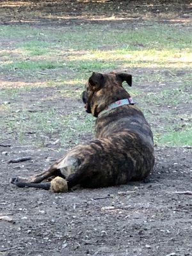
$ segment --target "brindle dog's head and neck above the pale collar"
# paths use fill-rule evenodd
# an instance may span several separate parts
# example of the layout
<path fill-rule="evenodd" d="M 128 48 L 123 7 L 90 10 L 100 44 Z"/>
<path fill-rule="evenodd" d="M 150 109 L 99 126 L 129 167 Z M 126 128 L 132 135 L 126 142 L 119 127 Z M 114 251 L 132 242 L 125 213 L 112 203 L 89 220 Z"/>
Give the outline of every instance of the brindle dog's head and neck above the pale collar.
<path fill-rule="evenodd" d="M 109 104 L 116 100 L 129 98 L 129 93 L 122 86 L 124 81 L 131 86 L 132 76 L 126 73 L 101 74 L 93 72 L 82 95 L 86 112 L 97 117 L 100 111 Z"/>

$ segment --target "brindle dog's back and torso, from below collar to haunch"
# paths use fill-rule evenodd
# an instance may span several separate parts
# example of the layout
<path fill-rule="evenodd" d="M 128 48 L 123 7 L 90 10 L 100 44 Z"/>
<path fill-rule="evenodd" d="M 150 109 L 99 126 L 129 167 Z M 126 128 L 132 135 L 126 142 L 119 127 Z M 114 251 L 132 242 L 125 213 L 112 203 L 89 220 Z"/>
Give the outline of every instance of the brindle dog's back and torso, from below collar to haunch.
<path fill-rule="evenodd" d="M 142 180 L 152 172 L 153 135 L 140 109 L 129 105 L 105 113 L 97 118 L 95 132 L 97 144 L 106 141 L 102 158 L 108 159 L 108 163 L 103 168 L 113 169 L 111 173 L 118 177 L 115 184 Z"/>

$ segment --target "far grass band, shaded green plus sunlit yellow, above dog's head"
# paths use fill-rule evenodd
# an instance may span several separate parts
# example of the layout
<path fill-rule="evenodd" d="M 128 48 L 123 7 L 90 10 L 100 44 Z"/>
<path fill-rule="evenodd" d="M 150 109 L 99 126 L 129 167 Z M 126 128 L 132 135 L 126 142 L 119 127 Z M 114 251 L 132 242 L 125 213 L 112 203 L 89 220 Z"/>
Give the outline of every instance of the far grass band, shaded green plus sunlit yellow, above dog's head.
<path fill-rule="evenodd" d="M 137 30 L 128 28 L 119 31 L 109 26 L 94 25 L 94 29 L 92 26 L 86 26 L 86 29 L 75 26 L 47 28 L 43 32 L 28 26 L 22 29 L 19 26 L 1 26 L 1 36 L 13 40 L 15 47 L 10 53 L 4 52 L 4 56 L 9 56 L 1 65 L 4 72 L 10 68 L 35 72 L 62 65 L 79 72 L 92 68 L 185 68 L 191 61 L 191 36 L 188 31 L 178 31 L 163 24 Z M 35 56 L 38 58 L 35 59 Z M 26 61 L 26 58 L 29 60 Z"/>

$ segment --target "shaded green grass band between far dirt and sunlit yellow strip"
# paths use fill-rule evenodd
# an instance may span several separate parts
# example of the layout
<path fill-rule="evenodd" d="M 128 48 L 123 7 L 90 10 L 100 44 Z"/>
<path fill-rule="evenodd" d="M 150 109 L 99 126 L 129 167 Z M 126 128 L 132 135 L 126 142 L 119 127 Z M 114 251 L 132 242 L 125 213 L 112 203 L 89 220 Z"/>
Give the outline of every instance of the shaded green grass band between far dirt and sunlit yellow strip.
<path fill-rule="evenodd" d="M 149 26 L 148 26 L 149 25 Z M 152 26 L 151 26 L 152 25 Z M 179 33 L 178 33 L 179 32 Z M 1 26 L 0 36 L 9 39 L 52 41 L 70 49 L 97 49 L 116 45 L 116 48 L 138 49 L 143 45 L 148 49 L 183 49 L 190 47 L 191 35 L 186 29 L 165 24 L 146 23 L 138 29 L 111 28 L 111 26 L 74 26 L 70 28 L 38 29 L 29 26 Z M 49 44 L 49 43 L 47 43 Z M 140 45 L 137 45 L 140 44 Z"/>

